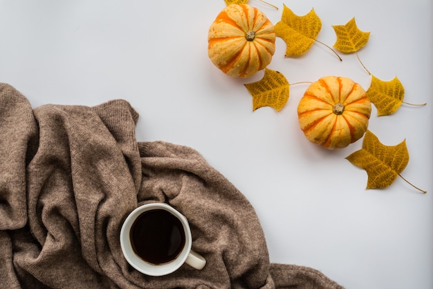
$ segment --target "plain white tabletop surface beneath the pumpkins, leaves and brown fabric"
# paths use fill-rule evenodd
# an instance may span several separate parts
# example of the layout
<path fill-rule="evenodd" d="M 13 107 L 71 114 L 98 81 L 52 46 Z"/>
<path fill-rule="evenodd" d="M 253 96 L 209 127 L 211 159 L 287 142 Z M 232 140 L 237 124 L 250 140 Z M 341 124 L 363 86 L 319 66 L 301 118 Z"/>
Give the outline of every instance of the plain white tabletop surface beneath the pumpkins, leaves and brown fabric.
<path fill-rule="evenodd" d="M 276 24 L 283 1 L 258 0 Z M 162 140 L 199 150 L 250 200 L 263 225 L 270 261 L 321 270 L 347 289 L 433 288 L 432 1 L 286 0 L 297 15 L 314 8 L 317 37 L 335 43 L 332 25 L 352 17 L 369 43 L 358 54 L 376 77 L 395 76 L 405 101 L 369 130 L 385 145 L 406 139 L 403 176 L 388 189 L 366 190 L 367 173 L 344 157 L 362 141 L 329 151 L 305 139 L 296 108 L 306 85 L 291 86 L 286 107 L 252 112 L 244 83 L 208 59 L 208 27 L 223 0 L 0 0 L 0 81 L 46 103 L 98 105 L 125 98 L 140 113 L 139 141 Z M 300 58 L 277 49 L 268 68 L 289 82 L 322 76 L 352 78 L 367 89 L 370 76 L 356 55 L 321 44 Z M 2 136 L 3 137 L 3 136 Z"/>

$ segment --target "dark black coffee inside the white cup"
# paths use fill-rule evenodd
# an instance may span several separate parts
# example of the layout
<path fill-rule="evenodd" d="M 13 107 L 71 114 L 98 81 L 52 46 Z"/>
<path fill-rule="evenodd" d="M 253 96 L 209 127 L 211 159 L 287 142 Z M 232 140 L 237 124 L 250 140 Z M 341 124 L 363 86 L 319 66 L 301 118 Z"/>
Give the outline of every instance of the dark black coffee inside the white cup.
<path fill-rule="evenodd" d="M 129 233 L 133 251 L 144 261 L 163 264 L 176 259 L 185 245 L 182 222 L 163 209 L 145 211 Z"/>

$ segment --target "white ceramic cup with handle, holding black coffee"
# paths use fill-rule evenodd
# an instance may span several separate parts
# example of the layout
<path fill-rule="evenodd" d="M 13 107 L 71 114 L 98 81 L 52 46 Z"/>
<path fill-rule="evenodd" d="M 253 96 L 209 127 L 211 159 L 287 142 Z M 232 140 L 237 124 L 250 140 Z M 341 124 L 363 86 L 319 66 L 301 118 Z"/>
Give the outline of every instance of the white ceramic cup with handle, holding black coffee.
<path fill-rule="evenodd" d="M 136 219 L 147 211 L 162 209 L 172 213 L 173 216 L 178 218 L 181 221 L 183 232 L 185 234 L 185 245 L 181 252 L 176 256 L 175 259 L 169 261 L 167 263 L 154 264 L 145 261 L 140 258 L 138 254 L 133 249 L 132 240 L 130 237 L 130 231 L 133 226 L 133 223 Z M 128 263 L 131 264 L 133 268 L 142 272 L 143 274 L 147 274 L 150 276 L 162 276 L 166 274 L 170 274 L 183 265 L 183 263 L 187 263 L 188 265 L 196 268 L 197 270 L 203 269 L 206 264 L 205 259 L 200 254 L 194 252 L 191 249 L 192 246 L 192 236 L 190 225 L 188 224 L 187 219 L 181 213 L 176 211 L 173 207 L 170 207 L 165 203 L 151 203 L 144 204 L 136 209 L 134 209 L 129 216 L 127 216 L 125 222 L 122 225 L 122 229 L 120 230 L 120 246 L 122 247 L 123 255 L 125 259 L 127 259 Z"/>

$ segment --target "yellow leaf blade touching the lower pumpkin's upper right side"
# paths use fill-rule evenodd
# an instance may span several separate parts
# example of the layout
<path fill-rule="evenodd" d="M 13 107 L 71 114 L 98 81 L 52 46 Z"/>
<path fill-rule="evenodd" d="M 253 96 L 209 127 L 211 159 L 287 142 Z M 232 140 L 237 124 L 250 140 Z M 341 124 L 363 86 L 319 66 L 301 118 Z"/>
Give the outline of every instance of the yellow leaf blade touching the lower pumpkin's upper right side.
<path fill-rule="evenodd" d="M 367 96 L 378 109 L 378 116 L 389 115 L 396 112 L 403 103 L 405 88 L 397 77 L 390 81 L 383 81 L 371 76 Z"/>

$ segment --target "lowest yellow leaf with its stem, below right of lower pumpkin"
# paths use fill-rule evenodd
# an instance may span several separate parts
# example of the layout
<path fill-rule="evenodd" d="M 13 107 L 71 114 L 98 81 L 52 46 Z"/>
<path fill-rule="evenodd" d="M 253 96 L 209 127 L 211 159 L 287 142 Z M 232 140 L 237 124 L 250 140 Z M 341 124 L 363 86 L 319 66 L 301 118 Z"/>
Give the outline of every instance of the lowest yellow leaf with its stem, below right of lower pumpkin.
<path fill-rule="evenodd" d="M 409 152 L 406 141 L 403 140 L 396 146 L 385 146 L 376 135 L 367 130 L 362 149 L 353 152 L 346 159 L 367 172 L 367 189 L 383 189 L 390 186 L 398 176 L 402 177 L 400 173 L 409 162 Z M 416 186 L 414 188 L 418 189 Z"/>

